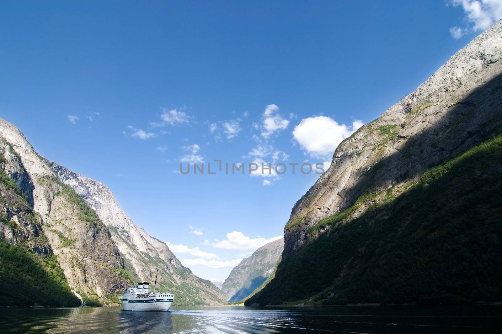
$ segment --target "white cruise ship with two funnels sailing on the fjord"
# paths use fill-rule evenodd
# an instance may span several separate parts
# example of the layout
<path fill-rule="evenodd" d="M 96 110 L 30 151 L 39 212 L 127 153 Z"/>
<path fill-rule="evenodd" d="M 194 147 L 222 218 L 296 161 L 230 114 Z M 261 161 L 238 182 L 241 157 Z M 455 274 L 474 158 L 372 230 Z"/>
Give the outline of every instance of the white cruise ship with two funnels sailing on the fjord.
<path fill-rule="evenodd" d="M 149 290 L 150 283 L 138 283 L 138 286 L 130 287 L 124 292 L 122 309 L 124 311 L 169 311 L 174 302 L 174 294 Z"/>

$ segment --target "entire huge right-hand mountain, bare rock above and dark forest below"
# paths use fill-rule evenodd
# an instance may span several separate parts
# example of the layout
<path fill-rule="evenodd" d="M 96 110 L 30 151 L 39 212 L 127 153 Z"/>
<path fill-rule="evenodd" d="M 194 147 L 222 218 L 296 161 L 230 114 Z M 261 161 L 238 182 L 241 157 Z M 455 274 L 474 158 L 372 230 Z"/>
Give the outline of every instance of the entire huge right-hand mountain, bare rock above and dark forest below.
<path fill-rule="evenodd" d="M 501 59 L 499 21 L 342 141 L 246 304 L 502 300 Z"/>

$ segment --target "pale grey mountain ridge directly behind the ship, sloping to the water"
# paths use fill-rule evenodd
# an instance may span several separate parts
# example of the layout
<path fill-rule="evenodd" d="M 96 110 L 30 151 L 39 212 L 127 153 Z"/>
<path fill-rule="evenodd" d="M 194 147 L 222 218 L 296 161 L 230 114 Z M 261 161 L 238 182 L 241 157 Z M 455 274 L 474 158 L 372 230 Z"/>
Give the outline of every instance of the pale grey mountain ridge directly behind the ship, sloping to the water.
<path fill-rule="evenodd" d="M 70 186 L 111 231 L 111 239 L 140 280 L 153 280 L 159 267 L 159 286 L 176 295 L 178 305 L 217 305 L 226 298 L 211 282 L 196 277 L 169 250 L 148 235 L 118 207 L 113 193 L 100 182 L 69 171 L 55 162 L 50 166 L 61 182 Z"/>

